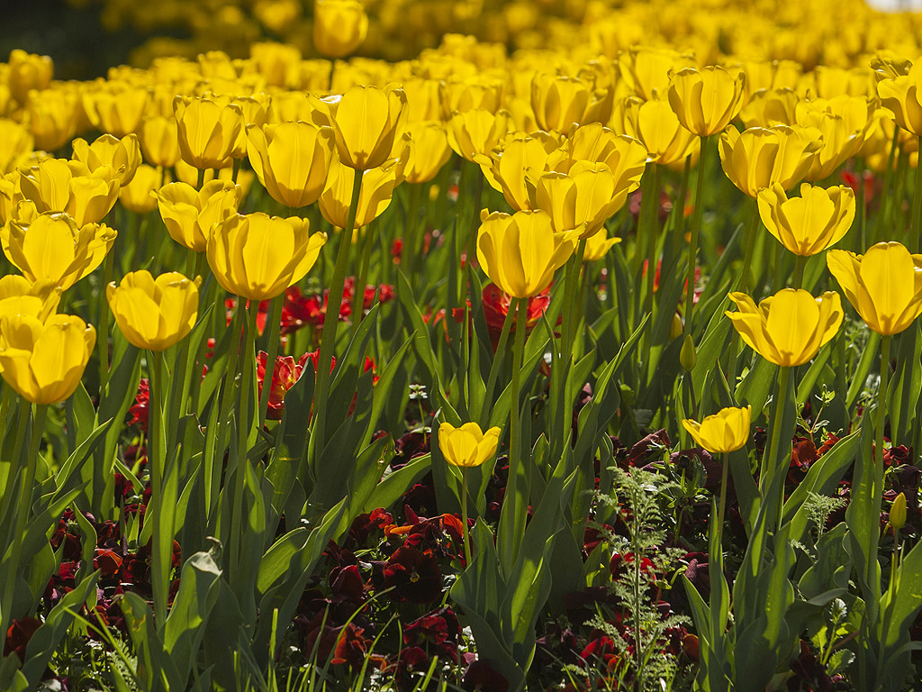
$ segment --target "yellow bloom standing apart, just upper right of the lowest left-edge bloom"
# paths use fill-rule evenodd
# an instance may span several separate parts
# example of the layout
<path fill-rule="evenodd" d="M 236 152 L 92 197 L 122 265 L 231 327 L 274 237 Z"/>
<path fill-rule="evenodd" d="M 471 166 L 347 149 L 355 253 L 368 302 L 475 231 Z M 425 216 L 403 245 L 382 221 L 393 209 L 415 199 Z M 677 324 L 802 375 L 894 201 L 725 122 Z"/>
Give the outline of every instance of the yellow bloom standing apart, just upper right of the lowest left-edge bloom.
<path fill-rule="evenodd" d="M 198 286 L 171 271 L 154 279 L 147 269 L 124 275 L 118 286 L 106 286 L 106 300 L 124 338 L 139 349 L 165 351 L 195 327 Z"/>

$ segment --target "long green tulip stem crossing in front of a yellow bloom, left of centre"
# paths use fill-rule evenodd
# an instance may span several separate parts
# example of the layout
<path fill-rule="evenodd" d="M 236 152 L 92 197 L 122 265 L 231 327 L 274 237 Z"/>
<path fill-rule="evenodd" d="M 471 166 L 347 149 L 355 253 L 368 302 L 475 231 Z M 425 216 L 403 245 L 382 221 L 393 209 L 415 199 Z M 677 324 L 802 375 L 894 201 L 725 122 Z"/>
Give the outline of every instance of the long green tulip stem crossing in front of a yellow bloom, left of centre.
<path fill-rule="evenodd" d="M 339 235 L 339 250 L 337 263 L 333 268 L 333 278 L 330 280 L 329 291 L 326 298 L 326 314 L 324 316 L 324 332 L 320 340 L 320 356 L 317 362 L 317 386 L 314 389 L 313 411 L 316 414 L 313 421 L 313 435 L 309 443 L 309 454 L 315 461 L 315 454 L 323 450 L 325 443 L 326 403 L 330 395 L 330 364 L 333 362 L 333 352 L 337 345 L 337 327 L 339 326 L 339 304 L 342 302 L 343 286 L 346 284 L 346 265 L 349 264 L 349 248 L 352 245 L 352 231 L 355 229 L 355 216 L 359 210 L 359 196 L 361 195 L 361 169 L 356 169 L 355 179 L 352 182 L 352 200 L 349 203 L 349 217 L 346 228 Z M 318 447 L 319 450 L 318 450 Z"/>

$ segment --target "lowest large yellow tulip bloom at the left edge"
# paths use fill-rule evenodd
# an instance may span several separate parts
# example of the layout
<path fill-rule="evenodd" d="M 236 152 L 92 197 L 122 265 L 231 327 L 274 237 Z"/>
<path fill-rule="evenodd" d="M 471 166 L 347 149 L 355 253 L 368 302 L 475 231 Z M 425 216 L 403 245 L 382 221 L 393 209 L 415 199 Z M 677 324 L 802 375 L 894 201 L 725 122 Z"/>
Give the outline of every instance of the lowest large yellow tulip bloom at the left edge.
<path fill-rule="evenodd" d="M 96 329 L 76 316 L 42 322 L 30 315 L 0 319 L 0 374 L 34 404 L 70 397 L 96 345 Z"/>

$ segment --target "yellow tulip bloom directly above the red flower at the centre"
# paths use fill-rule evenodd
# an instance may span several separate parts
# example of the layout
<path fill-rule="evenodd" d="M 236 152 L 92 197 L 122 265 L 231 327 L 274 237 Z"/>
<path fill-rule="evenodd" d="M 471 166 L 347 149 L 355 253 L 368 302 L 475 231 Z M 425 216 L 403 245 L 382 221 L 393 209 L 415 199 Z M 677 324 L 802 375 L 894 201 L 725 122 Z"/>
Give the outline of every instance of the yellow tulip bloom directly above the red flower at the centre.
<path fill-rule="evenodd" d="M 490 280 L 515 298 L 542 292 L 573 255 L 578 233 L 554 233 L 545 211 L 481 214 L 477 258 Z"/>

